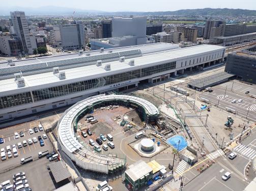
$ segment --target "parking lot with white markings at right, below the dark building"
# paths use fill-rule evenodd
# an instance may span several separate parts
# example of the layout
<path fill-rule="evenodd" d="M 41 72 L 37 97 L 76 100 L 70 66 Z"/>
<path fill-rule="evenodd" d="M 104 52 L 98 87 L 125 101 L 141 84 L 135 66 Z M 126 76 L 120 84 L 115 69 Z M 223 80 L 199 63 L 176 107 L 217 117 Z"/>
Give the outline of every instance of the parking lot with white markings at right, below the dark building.
<path fill-rule="evenodd" d="M 255 86 L 231 82 L 221 84 L 212 88 L 213 92 L 204 92 L 198 95 L 201 100 L 209 101 L 212 105 L 218 106 L 227 111 L 238 114 L 239 116 L 256 121 L 256 99 L 245 95 L 245 91 L 254 92 Z M 231 86 L 229 88 L 224 88 Z M 232 91 L 231 91 L 232 88 Z M 241 102 L 239 101 L 241 99 Z M 232 103 L 236 100 L 235 103 Z"/>

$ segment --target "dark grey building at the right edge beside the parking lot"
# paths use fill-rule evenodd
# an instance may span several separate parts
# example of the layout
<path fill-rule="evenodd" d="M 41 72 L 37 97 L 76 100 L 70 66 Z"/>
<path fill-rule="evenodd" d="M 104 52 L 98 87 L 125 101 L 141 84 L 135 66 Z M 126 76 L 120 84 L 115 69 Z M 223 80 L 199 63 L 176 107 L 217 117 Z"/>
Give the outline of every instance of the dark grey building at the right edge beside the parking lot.
<path fill-rule="evenodd" d="M 248 82 L 256 83 L 256 52 L 239 51 L 229 53 L 226 59 L 225 71 L 237 75 L 237 78 Z"/>

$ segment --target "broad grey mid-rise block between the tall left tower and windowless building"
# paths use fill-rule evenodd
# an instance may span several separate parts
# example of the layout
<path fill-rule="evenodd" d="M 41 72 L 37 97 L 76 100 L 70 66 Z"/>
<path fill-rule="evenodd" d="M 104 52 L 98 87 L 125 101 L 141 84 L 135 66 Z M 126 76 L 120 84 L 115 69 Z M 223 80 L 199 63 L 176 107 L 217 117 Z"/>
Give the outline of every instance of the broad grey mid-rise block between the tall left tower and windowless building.
<path fill-rule="evenodd" d="M 84 48 L 84 31 L 81 21 L 60 25 L 62 48 L 77 50 Z"/>

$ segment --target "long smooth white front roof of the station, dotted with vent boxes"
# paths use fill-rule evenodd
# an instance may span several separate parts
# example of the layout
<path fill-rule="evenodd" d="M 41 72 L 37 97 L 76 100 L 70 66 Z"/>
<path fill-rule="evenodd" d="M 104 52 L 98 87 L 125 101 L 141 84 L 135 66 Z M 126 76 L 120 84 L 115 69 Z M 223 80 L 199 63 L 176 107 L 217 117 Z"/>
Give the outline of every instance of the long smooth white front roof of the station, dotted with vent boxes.
<path fill-rule="evenodd" d="M 162 51 L 152 54 L 146 54 L 143 56 L 128 58 L 125 59 L 124 62 L 109 61 L 102 63 L 101 66 L 96 66 L 96 64 L 67 68 L 62 69 L 61 71 L 65 71 L 66 79 L 60 80 L 57 75 L 53 74 L 52 71 L 38 73 L 38 74 L 29 74 L 23 76 L 25 80 L 25 87 L 40 87 L 44 84 L 49 84 L 49 87 L 54 86 L 55 83 L 67 84 L 73 83 L 83 80 L 89 80 L 93 78 L 104 77 L 105 75 L 111 75 L 119 72 L 130 71 L 133 69 L 140 69 L 143 67 L 149 67 L 154 65 L 155 63 L 163 63 L 166 61 L 177 61 L 181 59 L 186 59 L 188 57 L 198 56 L 201 54 L 207 54 L 211 51 L 221 51 L 224 50 L 224 47 L 215 46 L 215 45 L 198 45 L 188 48 L 182 49 L 174 49 L 169 51 Z M 128 63 L 130 60 L 134 60 L 134 66 L 130 66 Z M 110 70 L 107 71 L 104 69 L 106 64 L 110 64 Z M 75 80 L 76 79 L 76 80 Z M 52 84 L 52 85 L 50 85 Z M 0 80 L 0 92 L 11 91 L 17 89 L 17 84 L 12 79 L 4 79 Z M 22 89 L 22 88 L 19 88 Z"/>

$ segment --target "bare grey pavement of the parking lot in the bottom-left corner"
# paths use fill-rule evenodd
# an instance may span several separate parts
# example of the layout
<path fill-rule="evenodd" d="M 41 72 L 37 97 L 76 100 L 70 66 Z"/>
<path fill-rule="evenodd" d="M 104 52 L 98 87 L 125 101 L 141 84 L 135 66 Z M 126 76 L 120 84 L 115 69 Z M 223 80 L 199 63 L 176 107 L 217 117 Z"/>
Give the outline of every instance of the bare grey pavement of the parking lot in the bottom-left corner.
<path fill-rule="evenodd" d="M 10 180 L 11 183 L 13 184 L 13 175 L 19 172 L 25 172 L 27 183 L 32 188 L 32 190 L 45 190 L 45 191 L 54 190 L 55 185 L 51 179 L 49 170 L 47 169 L 47 165 L 49 163 L 53 163 L 53 162 L 49 162 L 49 160 L 46 159 L 46 157 L 44 157 L 42 159 L 33 161 L 26 165 L 22 165 L 18 168 L 7 171 L 5 173 L 1 173 L 0 183 L 6 180 Z M 2 168 L 2 163 L 1 163 L 1 168 Z"/>

